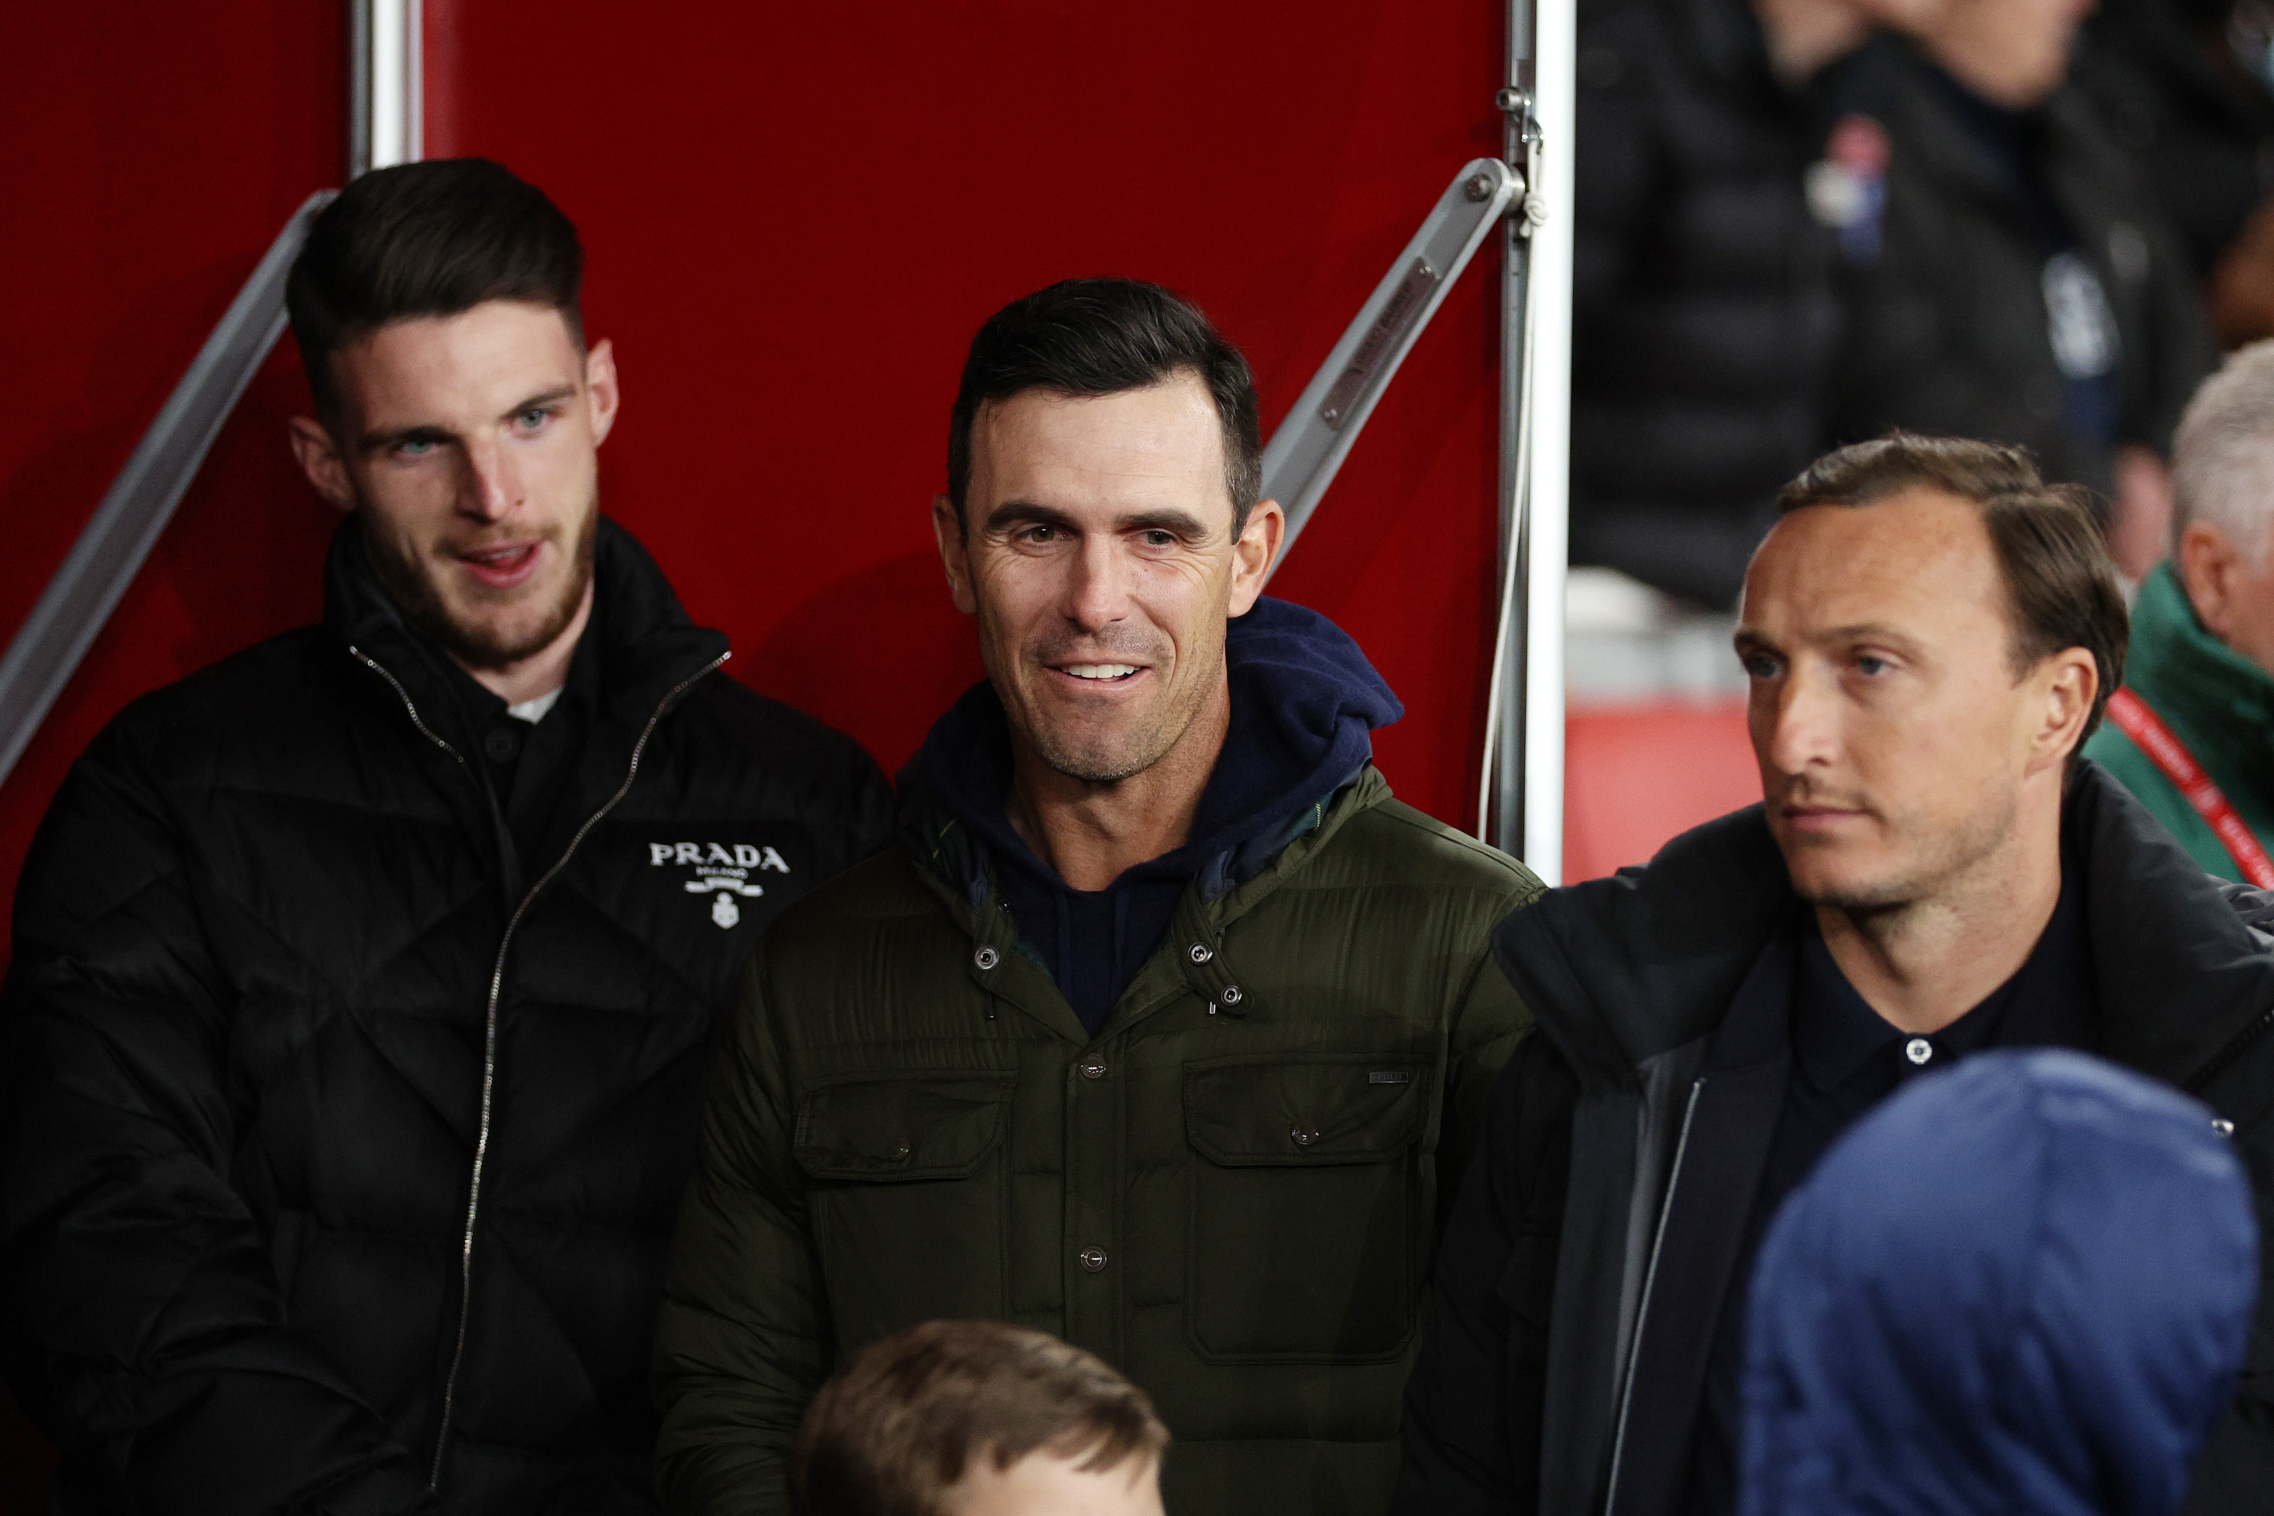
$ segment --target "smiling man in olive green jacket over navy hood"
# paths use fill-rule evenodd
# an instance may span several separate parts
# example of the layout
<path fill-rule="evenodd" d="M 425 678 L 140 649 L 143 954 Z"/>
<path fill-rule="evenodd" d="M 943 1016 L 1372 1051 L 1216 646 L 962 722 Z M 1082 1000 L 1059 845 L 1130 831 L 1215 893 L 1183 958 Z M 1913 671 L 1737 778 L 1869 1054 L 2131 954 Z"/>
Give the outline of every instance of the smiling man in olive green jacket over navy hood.
<path fill-rule="evenodd" d="M 823 1377 L 928 1318 L 1119 1366 L 1178 1516 L 1387 1509 L 1526 1023 L 1487 930 L 1539 884 L 1389 798 L 1396 698 L 1260 598 L 1255 439 L 1246 364 L 1155 286 L 1055 284 L 973 341 L 935 530 L 989 680 L 901 843 L 744 980 L 657 1336 L 666 1509 L 787 1511 Z"/>

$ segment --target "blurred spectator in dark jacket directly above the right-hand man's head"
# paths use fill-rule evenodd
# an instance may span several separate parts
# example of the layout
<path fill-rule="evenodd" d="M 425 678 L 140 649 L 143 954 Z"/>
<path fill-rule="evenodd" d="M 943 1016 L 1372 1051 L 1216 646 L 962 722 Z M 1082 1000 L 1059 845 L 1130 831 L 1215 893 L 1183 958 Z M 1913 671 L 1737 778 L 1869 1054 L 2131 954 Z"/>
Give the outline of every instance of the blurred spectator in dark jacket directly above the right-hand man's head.
<path fill-rule="evenodd" d="M 2065 82 L 2090 0 L 1856 5 L 1897 34 L 1824 77 L 1808 184 L 1849 309 L 1833 434 L 2022 443 L 2115 500 L 2138 580 L 2169 518 L 2160 450 L 2215 348 L 2140 166 Z"/>

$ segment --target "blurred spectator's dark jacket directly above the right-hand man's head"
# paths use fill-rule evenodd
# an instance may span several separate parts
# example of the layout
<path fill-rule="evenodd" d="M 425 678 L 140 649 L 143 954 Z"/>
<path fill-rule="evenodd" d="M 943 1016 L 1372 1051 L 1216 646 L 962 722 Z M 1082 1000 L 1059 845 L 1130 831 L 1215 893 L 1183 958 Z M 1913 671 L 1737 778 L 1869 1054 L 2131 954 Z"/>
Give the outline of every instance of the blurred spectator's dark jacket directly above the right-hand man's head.
<path fill-rule="evenodd" d="M 1835 441 L 1903 427 L 2022 443 L 2047 477 L 2103 493 L 2122 443 L 2167 450 L 2217 348 L 2188 255 L 2097 107 L 2065 84 L 2044 107 L 2003 116 L 1894 39 L 1842 64 L 1824 93 L 1878 120 L 1892 148 L 1878 252 L 1844 273 Z M 2056 252 L 2090 270 L 2110 323 L 2083 323 L 2115 348 L 2094 370 L 2106 373 L 2097 430 L 2053 348 Z M 2081 357 L 2072 368 L 2085 368 Z"/>

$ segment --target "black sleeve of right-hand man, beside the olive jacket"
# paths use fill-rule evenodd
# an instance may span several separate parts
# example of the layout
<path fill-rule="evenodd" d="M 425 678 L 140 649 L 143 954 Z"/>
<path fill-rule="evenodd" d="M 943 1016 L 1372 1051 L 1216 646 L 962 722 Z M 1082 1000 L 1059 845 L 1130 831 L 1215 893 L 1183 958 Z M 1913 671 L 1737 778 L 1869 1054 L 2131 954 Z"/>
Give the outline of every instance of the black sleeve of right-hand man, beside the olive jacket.
<path fill-rule="evenodd" d="M 1396 1516 L 1539 1507 L 1549 1307 L 1576 1082 L 1535 1030 L 1492 1091 L 1437 1252 L 1428 1339 L 1405 1386 Z"/>

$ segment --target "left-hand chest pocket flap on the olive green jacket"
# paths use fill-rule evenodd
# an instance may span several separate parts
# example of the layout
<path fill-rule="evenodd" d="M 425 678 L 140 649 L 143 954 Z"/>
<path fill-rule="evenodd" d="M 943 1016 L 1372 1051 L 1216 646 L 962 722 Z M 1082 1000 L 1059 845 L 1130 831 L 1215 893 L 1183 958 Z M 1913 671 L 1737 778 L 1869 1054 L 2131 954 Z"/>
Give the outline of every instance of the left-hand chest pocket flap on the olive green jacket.
<path fill-rule="evenodd" d="M 855 1075 L 798 1096 L 814 1180 L 969 1180 L 1003 1141 L 1012 1073 Z"/>

